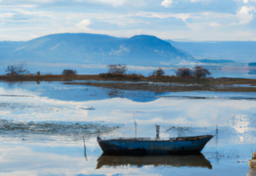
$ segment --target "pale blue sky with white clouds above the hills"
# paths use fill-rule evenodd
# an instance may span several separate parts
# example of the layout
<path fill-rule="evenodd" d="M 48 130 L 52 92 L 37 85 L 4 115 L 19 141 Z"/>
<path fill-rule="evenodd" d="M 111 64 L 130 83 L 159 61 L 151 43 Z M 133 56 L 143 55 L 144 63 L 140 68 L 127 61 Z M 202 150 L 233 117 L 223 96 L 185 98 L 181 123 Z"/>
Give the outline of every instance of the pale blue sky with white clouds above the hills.
<path fill-rule="evenodd" d="M 256 0 L 0 0 L 0 41 L 94 33 L 256 41 Z"/>

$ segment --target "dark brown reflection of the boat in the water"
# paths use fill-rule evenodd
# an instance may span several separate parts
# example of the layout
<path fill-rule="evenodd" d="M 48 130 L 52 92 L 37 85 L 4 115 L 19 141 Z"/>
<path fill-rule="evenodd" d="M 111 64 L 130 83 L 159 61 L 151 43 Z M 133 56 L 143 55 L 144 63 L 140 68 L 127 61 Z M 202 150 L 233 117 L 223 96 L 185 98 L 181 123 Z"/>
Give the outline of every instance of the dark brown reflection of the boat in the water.
<path fill-rule="evenodd" d="M 203 167 L 212 169 L 210 162 L 202 154 L 196 155 L 147 155 L 147 156 L 114 156 L 102 154 L 98 158 L 96 169 L 102 166 L 174 166 L 174 167 Z"/>

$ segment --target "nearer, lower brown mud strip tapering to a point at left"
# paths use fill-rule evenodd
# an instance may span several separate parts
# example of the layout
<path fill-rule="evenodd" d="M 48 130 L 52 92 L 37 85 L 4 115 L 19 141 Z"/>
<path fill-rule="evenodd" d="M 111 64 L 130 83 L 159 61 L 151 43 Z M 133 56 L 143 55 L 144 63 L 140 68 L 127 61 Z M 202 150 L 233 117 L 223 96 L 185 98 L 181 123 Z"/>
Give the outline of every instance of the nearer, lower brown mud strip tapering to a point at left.
<path fill-rule="evenodd" d="M 180 84 L 156 84 L 152 82 L 145 83 L 118 83 L 118 82 L 65 82 L 70 85 L 98 86 L 114 90 L 143 90 L 156 93 L 164 92 L 187 92 L 187 91 L 220 91 L 220 92 L 256 92 L 253 86 L 213 86 L 213 85 L 180 85 Z"/>

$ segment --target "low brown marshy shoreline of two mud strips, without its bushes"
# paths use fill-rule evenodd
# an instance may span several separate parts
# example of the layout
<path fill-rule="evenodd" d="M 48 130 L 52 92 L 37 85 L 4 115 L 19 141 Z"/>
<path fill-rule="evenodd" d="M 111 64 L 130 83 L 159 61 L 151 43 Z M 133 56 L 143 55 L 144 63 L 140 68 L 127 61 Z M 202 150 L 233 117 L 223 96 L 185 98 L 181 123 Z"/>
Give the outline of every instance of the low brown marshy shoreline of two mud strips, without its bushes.
<path fill-rule="evenodd" d="M 63 82 L 66 85 L 98 86 L 117 90 L 142 90 L 163 92 L 220 91 L 256 92 L 256 79 L 249 78 L 194 78 L 194 77 L 145 77 L 138 74 L 62 74 L 2 75 L 3 82 Z M 72 82 L 89 81 L 89 82 Z"/>

